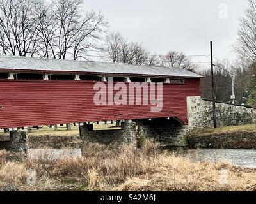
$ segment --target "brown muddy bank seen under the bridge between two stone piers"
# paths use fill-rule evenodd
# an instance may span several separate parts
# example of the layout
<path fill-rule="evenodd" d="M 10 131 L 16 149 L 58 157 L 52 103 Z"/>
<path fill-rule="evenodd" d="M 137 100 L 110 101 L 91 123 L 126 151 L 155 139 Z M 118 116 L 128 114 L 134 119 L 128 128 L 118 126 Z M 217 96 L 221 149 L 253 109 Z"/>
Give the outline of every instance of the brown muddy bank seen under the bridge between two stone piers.
<path fill-rule="evenodd" d="M 29 147 L 51 147 L 56 149 L 65 147 L 79 148 L 81 147 L 81 139 L 79 136 L 29 136 Z"/>

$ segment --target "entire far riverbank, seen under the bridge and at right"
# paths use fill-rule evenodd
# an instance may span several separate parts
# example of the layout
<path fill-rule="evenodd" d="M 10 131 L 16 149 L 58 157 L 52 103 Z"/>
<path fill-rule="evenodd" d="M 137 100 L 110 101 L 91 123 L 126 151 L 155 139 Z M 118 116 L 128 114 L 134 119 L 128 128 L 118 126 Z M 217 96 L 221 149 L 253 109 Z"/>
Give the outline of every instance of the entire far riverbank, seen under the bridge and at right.
<path fill-rule="evenodd" d="M 118 128 L 113 124 L 95 125 L 95 129 Z M 59 127 L 58 131 L 49 127 L 33 130 L 29 136 L 31 148 L 80 148 L 78 126 L 70 131 Z M 191 148 L 226 148 L 226 149 L 256 149 L 256 124 L 244 126 L 228 126 L 216 129 L 207 129 L 188 136 L 188 145 Z"/>

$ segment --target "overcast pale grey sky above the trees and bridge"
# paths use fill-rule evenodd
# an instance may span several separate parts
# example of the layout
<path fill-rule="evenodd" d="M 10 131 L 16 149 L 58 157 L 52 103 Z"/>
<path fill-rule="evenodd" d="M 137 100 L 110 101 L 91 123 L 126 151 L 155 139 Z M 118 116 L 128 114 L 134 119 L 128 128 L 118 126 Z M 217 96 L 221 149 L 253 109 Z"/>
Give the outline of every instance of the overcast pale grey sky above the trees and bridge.
<path fill-rule="evenodd" d="M 247 1 L 87 0 L 85 5 L 88 10 L 102 11 L 109 30 L 143 42 L 152 53 L 176 50 L 186 55 L 209 54 L 212 40 L 216 57 L 234 59 L 232 44 L 236 42 L 239 17 L 244 15 Z"/>

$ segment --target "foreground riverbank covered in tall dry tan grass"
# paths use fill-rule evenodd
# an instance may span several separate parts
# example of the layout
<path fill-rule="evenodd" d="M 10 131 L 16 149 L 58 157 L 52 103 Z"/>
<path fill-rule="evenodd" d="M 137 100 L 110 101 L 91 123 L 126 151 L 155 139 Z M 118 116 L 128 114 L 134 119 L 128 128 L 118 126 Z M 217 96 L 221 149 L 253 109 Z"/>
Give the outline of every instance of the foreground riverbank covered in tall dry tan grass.
<path fill-rule="evenodd" d="M 223 172 L 227 180 L 221 180 Z M 0 189 L 8 184 L 21 191 L 255 191 L 256 170 L 194 163 L 148 141 L 136 150 L 89 143 L 83 156 L 61 159 L 1 150 Z"/>

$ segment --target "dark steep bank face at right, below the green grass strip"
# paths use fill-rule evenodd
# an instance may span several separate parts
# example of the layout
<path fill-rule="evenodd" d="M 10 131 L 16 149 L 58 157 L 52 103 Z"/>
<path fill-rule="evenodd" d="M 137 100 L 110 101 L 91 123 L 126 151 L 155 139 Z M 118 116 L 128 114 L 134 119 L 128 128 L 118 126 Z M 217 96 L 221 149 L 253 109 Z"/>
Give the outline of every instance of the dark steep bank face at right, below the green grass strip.
<path fill-rule="evenodd" d="M 256 131 L 197 133 L 188 136 L 192 148 L 256 149 Z"/>

